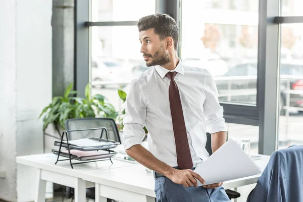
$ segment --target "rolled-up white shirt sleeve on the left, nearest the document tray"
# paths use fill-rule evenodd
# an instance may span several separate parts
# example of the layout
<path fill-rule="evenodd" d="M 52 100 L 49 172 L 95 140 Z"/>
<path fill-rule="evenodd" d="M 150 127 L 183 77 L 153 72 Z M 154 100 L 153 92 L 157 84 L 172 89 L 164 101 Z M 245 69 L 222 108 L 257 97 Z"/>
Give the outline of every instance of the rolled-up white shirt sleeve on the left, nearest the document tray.
<path fill-rule="evenodd" d="M 132 82 L 126 97 L 125 117 L 123 118 L 122 142 L 125 149 L 142 143 L 145 135 L 146 105 L 142 87 Z"/>

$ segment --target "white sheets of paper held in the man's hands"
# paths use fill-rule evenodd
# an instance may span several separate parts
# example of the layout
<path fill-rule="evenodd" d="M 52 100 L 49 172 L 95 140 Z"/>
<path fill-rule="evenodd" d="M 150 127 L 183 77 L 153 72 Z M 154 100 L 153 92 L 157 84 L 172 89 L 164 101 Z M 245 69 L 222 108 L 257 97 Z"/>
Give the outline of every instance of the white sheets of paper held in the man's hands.
<path fill-rule="evenodd" d="M 213 184 L 258 175 L 261 170 L 237 142 L 229 139 L 194 172 L 198 173 L 206 184 Z M 198 181 L 198 186 L 201 185 L 204 184 Z"/>

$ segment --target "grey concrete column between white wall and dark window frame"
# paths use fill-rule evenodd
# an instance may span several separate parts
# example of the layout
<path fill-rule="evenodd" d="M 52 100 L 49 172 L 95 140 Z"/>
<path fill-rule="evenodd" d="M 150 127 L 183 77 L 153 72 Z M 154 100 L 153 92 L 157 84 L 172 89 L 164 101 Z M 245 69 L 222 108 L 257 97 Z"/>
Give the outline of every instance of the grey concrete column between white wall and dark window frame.
<path fill-rule="evenodd" d="M 53 0 L 53 96 L 74 82 L 74 0 Z"/>

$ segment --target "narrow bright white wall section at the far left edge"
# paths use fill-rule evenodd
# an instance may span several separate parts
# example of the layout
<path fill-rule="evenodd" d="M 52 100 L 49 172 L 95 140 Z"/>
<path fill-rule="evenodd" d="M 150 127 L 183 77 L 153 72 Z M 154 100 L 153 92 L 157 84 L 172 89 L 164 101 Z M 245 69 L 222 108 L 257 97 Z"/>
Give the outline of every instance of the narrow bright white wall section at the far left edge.
<path fill-rule="evenodd" d="M 0 0 L 0 198 L 16 196 L 16 1 Z"/>

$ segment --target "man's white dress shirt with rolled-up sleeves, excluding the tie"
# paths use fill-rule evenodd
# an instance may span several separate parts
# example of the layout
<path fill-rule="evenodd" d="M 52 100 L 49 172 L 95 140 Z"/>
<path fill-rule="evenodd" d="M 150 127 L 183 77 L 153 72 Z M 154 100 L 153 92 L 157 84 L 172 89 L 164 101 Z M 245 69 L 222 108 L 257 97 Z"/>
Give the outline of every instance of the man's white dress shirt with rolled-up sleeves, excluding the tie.
<path fill-rule="evenodd" d="M 194 165 L 209 157 L 205 148 L 206 132 L 226 131 L 223 108 L 211 74 L 205 70 L 183 66 L 181 60 L 172 70 L 178 72 L 178 85 L 187 131 L 190 154 Z M 160 161 L 177 166 L 176 144 L 168 89 L 169 70 L 162 66 L 150 67 L 131 82 L 126 98 L 122 141 L 125 149 L 142 143 L 148 130 L 148 150 Z"/>

